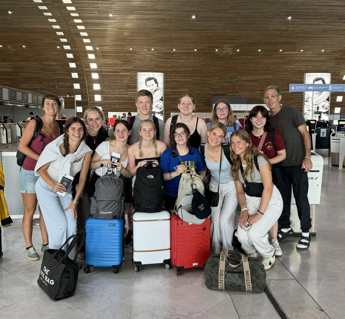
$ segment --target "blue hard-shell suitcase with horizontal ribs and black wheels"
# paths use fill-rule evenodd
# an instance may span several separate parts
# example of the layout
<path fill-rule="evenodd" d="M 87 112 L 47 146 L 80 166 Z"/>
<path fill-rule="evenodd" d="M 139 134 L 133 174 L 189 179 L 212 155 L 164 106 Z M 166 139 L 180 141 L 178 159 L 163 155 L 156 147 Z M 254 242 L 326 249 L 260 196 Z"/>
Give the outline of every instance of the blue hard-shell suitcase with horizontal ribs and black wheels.
<path fill-rule="evenodd" d="M 89 217 L 86 221 L 85 272 L 90 267 L 112 267 L 117 274 L 124 257 L 124 216 L 117 219 Z"/>

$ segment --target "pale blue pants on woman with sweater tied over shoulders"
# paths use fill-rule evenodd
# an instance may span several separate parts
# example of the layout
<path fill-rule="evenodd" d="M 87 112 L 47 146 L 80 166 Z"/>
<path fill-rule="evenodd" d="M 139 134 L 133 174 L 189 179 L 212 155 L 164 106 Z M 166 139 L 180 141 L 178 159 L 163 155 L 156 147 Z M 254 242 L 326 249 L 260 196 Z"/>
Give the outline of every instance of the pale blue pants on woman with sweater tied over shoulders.
<path fill-rule="evenodd" d="M 65 196 L 59 196 L 41 177 L 35 188 L 48 231 L 49 248 L 59 249 L 69 236 L 77 234 L 77 220 L 73 219 L 72 211 L 63 211 L 72 203 L 72 190 Z M 66 245 L 63 249 L 66 251 Z M 76 248 L 73 248 L 69 257 L 74 258 L 75 254 Z"/>

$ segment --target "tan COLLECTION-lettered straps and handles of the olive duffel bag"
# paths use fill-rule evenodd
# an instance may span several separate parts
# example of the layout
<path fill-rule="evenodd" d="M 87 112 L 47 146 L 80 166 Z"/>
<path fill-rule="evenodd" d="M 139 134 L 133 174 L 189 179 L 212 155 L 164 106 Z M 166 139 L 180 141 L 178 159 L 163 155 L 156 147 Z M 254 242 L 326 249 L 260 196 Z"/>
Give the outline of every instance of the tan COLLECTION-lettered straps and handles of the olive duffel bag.
<path fill-rule="evenodd" d="M 237 268 L 240 264 L 243 264 L 245 288 L 246 291 L 252 291 L 252 279 L 250 277 L 250 269 L 248 257 L 241 254 L 241 262 L 238 265 L 233 265 L 228 262 L 228 249 L 223 249 L 219 256 L 219 271 L 218 271 L 218 289 L 225 290 L 225 263 L 232 268 Z"/>

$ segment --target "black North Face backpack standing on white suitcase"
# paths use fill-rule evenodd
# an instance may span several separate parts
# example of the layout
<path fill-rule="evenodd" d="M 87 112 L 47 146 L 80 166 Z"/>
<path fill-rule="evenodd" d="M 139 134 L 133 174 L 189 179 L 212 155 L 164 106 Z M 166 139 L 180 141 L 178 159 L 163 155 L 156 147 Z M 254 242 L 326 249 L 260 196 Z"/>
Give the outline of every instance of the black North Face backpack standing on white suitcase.
<path fill-rule="evenodd" d="M 154 163 L 138 167 L 133 188 L 137 212 L 159 213 L 164 205 L 163 171 Z"/>

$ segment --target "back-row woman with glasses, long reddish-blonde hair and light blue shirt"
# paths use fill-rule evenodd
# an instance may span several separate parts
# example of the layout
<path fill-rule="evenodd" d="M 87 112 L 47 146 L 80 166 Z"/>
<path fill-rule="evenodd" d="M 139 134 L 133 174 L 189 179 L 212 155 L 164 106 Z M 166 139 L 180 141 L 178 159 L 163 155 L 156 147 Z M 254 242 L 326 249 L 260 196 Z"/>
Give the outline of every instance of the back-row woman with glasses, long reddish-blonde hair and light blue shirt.
<path fill-rule="evenodd" d="M 206 124 L 207 128 L 210 128 L 211 124 L 223 123 L 226 126 L 226 141 L 230 143 L 231 133 L 239 130 L 239 125 L 236 123 L 236 120 L 231 110 L 229 102 L 225 99 L 218 100 L 214 107 L 213 113 L 210 121 Z"/>

